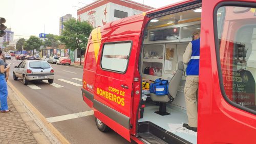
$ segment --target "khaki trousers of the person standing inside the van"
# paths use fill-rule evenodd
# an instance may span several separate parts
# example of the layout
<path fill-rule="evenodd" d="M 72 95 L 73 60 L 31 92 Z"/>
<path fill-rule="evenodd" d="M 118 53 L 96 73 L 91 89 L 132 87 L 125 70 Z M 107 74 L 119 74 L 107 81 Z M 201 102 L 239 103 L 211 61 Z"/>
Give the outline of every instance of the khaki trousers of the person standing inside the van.
<path fill-rule="evenodd" d="M 184 94 L 187 107 L 188 126 L 197 127 L 198 76 L 187 76 Z"/>

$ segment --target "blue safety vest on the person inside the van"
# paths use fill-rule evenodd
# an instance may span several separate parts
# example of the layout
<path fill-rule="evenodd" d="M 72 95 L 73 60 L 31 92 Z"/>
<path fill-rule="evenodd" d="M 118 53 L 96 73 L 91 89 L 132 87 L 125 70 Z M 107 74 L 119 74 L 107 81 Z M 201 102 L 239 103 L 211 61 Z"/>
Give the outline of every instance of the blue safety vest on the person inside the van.
<path fill-rule="evenodd" d="M 192 55 L 187 65 L 187 76 L 199 75 L 199 59 L 200 59 L 200 38 L 191 41 L 192 43 Z"/>

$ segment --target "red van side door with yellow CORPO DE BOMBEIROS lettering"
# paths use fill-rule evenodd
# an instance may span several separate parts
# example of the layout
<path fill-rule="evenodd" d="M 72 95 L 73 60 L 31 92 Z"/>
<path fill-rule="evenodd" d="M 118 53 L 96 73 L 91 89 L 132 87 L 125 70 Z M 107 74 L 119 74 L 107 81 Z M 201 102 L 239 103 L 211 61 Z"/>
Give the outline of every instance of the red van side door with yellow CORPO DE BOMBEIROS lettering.
<path fill-rule="evenodd" d="M 94 82 L 93 108 L 97 119 L 131 141 L 130 130 L 135 65 L 141 46 L 144 15 L 113 21 L 99 30 L 101 45 Z M 100 29 L 100 28 L 98 28 Z M 139 89 L 139 86 L 137 87 Z"/>

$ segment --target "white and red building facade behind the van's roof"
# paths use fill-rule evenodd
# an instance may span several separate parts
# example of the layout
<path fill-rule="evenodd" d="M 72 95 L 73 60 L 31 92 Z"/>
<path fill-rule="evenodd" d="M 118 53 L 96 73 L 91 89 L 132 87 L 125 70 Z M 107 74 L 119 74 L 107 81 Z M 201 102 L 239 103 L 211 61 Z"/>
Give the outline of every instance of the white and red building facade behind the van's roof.
<path fill-rule="evenodd" d="M 153 7 L 129 0 L 99 0 L 77 10 L 77 19 L 89 21 L 94 28 L 127 16 L 143 13 Z"/>

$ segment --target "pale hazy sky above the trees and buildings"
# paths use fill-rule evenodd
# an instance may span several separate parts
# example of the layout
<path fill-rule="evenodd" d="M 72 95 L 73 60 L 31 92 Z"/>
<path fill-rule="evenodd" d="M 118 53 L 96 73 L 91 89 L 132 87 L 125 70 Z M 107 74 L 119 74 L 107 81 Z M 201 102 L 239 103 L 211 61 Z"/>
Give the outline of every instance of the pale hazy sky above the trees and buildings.
<path fill-rule="evenodd" d="M 4 25 L 14 32 L 14 39 L 26 38 L 39 33 L 59 34 L 59 17 L 77 16 L 77 7 L 84 7 L 95 0 L 1 0 L 0 17 Z M 173 4 L 181 0 L 133 0 L 154 8 Z M 79 4 L 80 2 L 80 4 Z M 84 4 L 82 4 L 84 3 Z M 75 6 L 75 7 L 73 7 Z"/>

